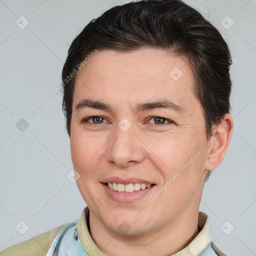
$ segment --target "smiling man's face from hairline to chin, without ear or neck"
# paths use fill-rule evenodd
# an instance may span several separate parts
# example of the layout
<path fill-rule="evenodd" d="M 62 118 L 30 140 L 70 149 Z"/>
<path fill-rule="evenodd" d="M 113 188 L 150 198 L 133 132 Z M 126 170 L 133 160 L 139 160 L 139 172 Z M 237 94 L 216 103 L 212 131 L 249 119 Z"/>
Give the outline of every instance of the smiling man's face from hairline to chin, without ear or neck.
<path fill-rule="evenodd" d="M 81 195 L 107 230 L 143 234 L 184 214 L 196 214 L 206 175 L 207 140 L 193 79 L 187 60 L 147 48 L 99 51 L 78 72 L 71 156 Z M 83 99 L 103 102 L 111 111 L 76 109 Z M 163 100 L 173 104 L 136 108 Z M 85 120 L 95 115 L 99 117 Z M 103 184 L 107 181 L 120 183 L 118 190 L 127 183 L 155 185 L 118 192 Z"/>

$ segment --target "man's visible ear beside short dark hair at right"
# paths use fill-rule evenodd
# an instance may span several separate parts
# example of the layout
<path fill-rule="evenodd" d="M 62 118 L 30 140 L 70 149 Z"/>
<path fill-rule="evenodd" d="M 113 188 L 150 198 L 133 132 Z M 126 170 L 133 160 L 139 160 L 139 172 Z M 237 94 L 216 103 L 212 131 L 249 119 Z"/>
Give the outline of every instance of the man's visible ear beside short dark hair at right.
<path fill-rule="evenodd" d="M 223 160 L 233 133 L 232 116 L 226 113 L 220 124 L 213 126 L 212 137 L 207 144 L 207 158 L 204 168 L 206 170 L 214 170 Z"/>

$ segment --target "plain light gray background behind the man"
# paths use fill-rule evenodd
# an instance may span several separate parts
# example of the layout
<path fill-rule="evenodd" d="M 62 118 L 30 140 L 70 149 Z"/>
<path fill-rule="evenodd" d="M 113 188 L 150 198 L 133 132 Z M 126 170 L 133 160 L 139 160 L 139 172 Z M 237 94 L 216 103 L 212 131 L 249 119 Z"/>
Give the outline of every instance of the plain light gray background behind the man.
<path fill-rule="evenodd" d="M 212 240 L 223 252 L 256 255 L 256 0 L 185 2 L 220 30 L 233 60 L 234 132 L 223 162 L 205 183 L 200 210 L 209 215 Z M 76 34 L 122 3 L 0 0 L 0 250 L 78 219 L 86 206 L 66 177 L 72 162 L 62 95 L 46 95 L 61 82 Z M 15 24 L 21 15 L 29 21 L 24 29 Z M 228 29 L 222 25 L 231 24 L 227 15 L 234 21 Z M 21 118 L 28 123 L 23 131 L 16 127 Z M 23 235 L 15 229 L 21 220 L 29 226 Z"/>

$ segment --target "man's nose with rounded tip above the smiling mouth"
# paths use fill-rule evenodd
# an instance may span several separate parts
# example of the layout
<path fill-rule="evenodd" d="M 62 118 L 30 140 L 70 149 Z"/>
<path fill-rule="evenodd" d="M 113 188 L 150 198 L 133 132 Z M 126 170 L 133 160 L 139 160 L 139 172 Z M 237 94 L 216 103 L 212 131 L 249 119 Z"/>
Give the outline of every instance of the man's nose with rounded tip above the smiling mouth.
<path fill-rule="evenodd" d="M 135 134 L 132 125 L 126 131 L 116 126 L 113 137 L 107 145 L 106 160 L 118 167 L 136 164 L 144 159 L 144 144 Z"/>

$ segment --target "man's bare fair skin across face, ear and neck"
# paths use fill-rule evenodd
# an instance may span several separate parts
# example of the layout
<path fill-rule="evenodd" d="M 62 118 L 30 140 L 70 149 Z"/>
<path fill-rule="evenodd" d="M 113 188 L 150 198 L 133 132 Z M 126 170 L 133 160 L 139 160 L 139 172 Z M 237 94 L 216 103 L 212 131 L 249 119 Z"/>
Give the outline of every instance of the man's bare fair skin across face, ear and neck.
<path fill-rule="evenodd" d="M 169 75 L 175 66 L 183 73 L 178 80 Z M 221 124 L 212 127 L 213 136 L 207 140 L 193 82 L 186 58 L 149 48 L 129 53 L 100 50 L 78 72 L 72 105 L 71 156 L 77 186 L 90 209 L 91 236 L 104 253 L 171 255 L 197 235 L 206 170 L 216 168 L 224 157 L 232 134 L 232 117 L 226 114 Z M 132 111 L 137 103 L 163 97 L 185 110 Z M 84 98 L 108 103 L 114 112 L 75 110 Z M 92 115 L 103 119 L 82 122 Z M 118 126 L 123 118 L 131 124 L 127 131 Z M 148 197 L 197 151 L 200 156 L 155 201 L 149 201 Z M 110 176 L 144 178 L 156 185 L 138 201 L 120 203 L 110 199 L 100 183 Z M 124 221 L 128 232 L 119 226 Z"/>

